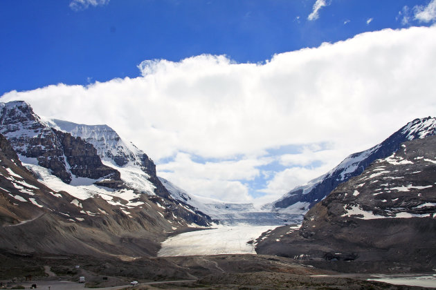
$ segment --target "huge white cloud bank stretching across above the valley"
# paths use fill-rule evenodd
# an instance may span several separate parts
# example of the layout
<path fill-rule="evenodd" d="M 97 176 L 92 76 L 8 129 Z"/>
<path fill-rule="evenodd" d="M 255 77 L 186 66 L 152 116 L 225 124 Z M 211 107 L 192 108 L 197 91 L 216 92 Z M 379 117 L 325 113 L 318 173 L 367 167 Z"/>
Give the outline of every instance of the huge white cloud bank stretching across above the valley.
<path fill-rule="evenodd" d="M 145 61 L 140 77 L 12 91 L 0 101 L 108 124 L 152 157 L 158 174 L 197 195 L 246 202 L 248 184 L 266 178 L 256 189 L 271 202 L 410 120 L 435 115 L 435 34 L 366 32 L 264 64 L 215 55 Z M 289 145 L 298 150 L 270 150 Z"/>

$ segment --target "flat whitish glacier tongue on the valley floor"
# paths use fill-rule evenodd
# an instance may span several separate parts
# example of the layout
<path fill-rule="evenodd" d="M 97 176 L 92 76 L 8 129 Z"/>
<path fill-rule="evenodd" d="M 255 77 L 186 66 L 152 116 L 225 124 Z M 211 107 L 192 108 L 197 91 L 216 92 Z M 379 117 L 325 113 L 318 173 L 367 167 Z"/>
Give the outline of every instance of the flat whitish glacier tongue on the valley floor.
<path fill-rule="evenodd" d="M 220 226 L 217 229 L 181 233 L 162 243 L 159 257 L 256 253 L 253 244 L 262 233 L 277 226 Z"/>

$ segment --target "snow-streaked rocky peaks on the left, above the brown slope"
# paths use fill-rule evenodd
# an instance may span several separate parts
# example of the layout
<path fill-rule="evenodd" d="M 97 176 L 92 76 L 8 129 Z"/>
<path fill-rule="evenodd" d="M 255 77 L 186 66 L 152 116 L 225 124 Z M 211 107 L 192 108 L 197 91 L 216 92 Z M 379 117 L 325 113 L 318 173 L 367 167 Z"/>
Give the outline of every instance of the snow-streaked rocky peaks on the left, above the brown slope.
<path fill-rule="evenodd" d="M 154 203 L 153 211 L 159 211 L 162 218 L 172 222 L 174 229 L 210 224 L 207 215 L 188 211 L 173 200 L 158 180 L 152 160 L 122 142 L 108 126 L 89 126 L 96 132 L 92 135 L 83 125 L 80 132 L 84 139 L 53 126 L 53 122 L 33 113 L 24 101 L 0 103 L 0 133 L 17 151 L 24 166 L 53 191 L 69 193 L 78 204 L 90 197 L 102 198 L 131 218 L 132 211 L 141 211 Z M 100 152 L 85 139 L 95 142 Z M 104 156 L 103 162 L 100 156 Z"/>

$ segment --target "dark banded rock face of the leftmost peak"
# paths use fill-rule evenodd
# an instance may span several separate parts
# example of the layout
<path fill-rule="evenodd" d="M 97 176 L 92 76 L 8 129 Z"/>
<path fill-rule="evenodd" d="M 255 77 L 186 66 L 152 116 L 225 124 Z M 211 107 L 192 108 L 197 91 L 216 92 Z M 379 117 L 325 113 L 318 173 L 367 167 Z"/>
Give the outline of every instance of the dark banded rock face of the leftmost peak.
<path fill-rule="evenodd" d="M 91 144 L 50 128 L 24 101 L 1 103 L 0 133 L 19 155 L 36 158 L 39 166 L 51 169 L 65 183 L 71 182 L 73 174 L 105 178 L 112 180 L 112 187 L 122 186 L 120 173 L 103 165 Z"/>

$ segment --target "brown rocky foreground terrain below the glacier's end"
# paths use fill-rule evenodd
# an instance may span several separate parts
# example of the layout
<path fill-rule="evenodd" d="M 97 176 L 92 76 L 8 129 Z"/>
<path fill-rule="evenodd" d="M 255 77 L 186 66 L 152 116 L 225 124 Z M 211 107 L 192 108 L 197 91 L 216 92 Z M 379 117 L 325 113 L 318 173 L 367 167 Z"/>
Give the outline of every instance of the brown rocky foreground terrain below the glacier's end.
<path fill-rule="evenodd" d="M 132 280 L 144 283 L 134 289 L 423 289 L 367 281 L 367 276 L 330 276 L 335 273 L 269 255 L 122 261 L 82 255 L 25 255 L 0 251 L 0 259 L 0 280 L 17 277 L 16 284 L 24 284 L 24 276 L 32 275 L 34 281 L 61 278 L 76 282 L 84 276 L 87 287 L 112 287 L 129 284 Z M 163 281 L 178 282 L 145 284 Z"/>

